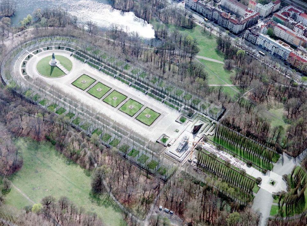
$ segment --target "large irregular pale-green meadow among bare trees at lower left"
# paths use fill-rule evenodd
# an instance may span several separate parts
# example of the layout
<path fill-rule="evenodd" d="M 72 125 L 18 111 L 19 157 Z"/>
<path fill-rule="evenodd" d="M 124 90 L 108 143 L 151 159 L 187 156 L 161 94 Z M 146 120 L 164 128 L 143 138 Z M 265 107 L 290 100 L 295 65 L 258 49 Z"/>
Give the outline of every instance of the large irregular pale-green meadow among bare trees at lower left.
<path fill-rule="evenodd" d="M 10 180 L 31 200 L 38 203 L 47 195 L 57 199 L 66 196 L 86 211 L 97 213 L 105 225 L 120 226 L 124 222 L 120 213 L 111 206 L 96 205 L 89 197 L 91 177 L 87 170 L 60 155 L 48 142 L 40 144 L 29 139 L 17 139 L 21 147 L 23 166 Z M 28 201 L 12 190 L 6 197 L 9 204 L 18 209 Z"/>

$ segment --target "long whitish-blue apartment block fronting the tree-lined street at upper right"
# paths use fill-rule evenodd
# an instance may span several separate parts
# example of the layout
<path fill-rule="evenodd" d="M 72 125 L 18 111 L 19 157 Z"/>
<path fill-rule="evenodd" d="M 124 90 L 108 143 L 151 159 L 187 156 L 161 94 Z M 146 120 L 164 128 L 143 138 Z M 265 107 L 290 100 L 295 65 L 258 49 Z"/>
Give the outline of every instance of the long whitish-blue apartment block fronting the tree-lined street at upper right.
<path fill-rule="evenodd" d="M 259 35 L 256 45 L 282 60 L 287 60 L 290 52 L 293 51 L 290 45 L 281 40 L 275 41 L 264 34 Z"/>

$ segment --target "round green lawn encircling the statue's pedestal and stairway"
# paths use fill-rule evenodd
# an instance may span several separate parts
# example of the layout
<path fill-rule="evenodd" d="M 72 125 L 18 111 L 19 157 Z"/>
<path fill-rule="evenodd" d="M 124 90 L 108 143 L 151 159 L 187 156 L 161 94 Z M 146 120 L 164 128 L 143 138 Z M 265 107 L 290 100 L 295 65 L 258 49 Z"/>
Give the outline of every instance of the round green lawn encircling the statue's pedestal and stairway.
<path fill-rule="evenodd" d="M 57 60 L 60 61 L 60 64 L 63 65 L 68 71 L 72 70 L 72 62 L 65 56 L 55 56 Z M 36 69 L 38 73 L 50 78 L 57 78 L 65 75 L 65 73 L 58 67 L 52 67 L 49 64 L 51 60 L 51 55 L 47 56 L 40 61 L 38 61 L 36 65 Z"/>

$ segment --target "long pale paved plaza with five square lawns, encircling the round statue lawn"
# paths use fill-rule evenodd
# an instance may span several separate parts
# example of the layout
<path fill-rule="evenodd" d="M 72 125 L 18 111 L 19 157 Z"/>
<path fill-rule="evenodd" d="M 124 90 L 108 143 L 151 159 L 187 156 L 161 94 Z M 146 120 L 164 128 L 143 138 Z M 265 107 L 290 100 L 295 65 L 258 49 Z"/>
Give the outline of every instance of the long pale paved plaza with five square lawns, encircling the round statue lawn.
<path fill-rule="evenodd" d="M 60 78 L 46 78 L 37 72 L 37 63 L 45 57 L 50 56 L 51 58 L 53 52 L 56 56 L 64 56 L 71 60 L 73 66 L 68 75 Z M 79 99 L 80 104 L 85 103 L 87 106 L 92 107 L 97 112 L 105 114 L 117 123 L 130 128 L 134 132 L 147 137 L 151 141 L 156 141 L 163 133 L 167 134 L 171 139 L 177 138 L 178 135 L 185 130 L 184 125 L 175 121 L 181 115 L 177 110 L 172 109 L 167 105 L 149 97 L 148 95 L 128 86 L 127 84 L 120 82 L 110 75 L 104 74 L 103 72 L 89 66 L 87 63 L 83 63 L 80 60 L 75 59 L 73 56 L 70 56 L 70 53 L 71 52 L 69 51 L 55 49 L 37 53 L 36 55 L 33 55 L 33 57 L 31 57 L 26 64 L 25 69 L 27 74 L 32 79 L 40 78 L 49 85 L 60 88 L 68 95 Z M 19 68 L 20 67 L 21 65 L 19 65 Z M 83 77 L 79 79 L 80 76 Z M 87 76 L 91 79 L 89 79 Z M 90 81 L 87 82 L 87 80 Z M 102 83 L 104 86 L 98 87 L 98 82 Z M 100 96 L 96 94 L 93 95 L 93 89 L 91 90 L 91 88 L 94 86 L 95 88 L 97 86 L 101 89 L 107 86 L 111 89 L 103 90 L 106 91 L 106 93 L 103 94 L 101 99 L 99 99 Z M 94 90 L 96 93 L 99 92 L 97 89 Z M 89 90 L 91 91 L 87 93 Z M 118 98 L 122 98 L 124 100 L 115 100 L 117 97 L 114 98 L 114 95 L 111 95 L 112 92 L 113 94 L 122 94 L 118 95 Z M 111 95 L 111 98 L 113 99 L 105 99 L 108 95 Z M 127 113 L 127 107 L 133 107 L 130 106 L 131 104 L 129 106 L 125 105 L 125 103 L 129 100 L 131 103 L 133 103 L 133 101 L 135 103 L 139 103 L 138 106 L 135 106 L 137 113 L 133 111 L 133 113 Z M 138 115 L 141 115 L 142 112 L 144 115 L 138 117 Z M 150 119 L 150 117 L 154 118 Z M 155 118 L 156 120 L 154 120 Z"/>

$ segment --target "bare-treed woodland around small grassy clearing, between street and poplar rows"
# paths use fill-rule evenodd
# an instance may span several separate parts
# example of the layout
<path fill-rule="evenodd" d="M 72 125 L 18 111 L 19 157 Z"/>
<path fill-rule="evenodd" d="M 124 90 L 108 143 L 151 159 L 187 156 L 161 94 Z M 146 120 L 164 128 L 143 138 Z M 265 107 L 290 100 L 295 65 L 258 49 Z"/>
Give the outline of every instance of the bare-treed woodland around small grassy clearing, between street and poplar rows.
<path fill-rule="evenodd" d="M 291 74 L 291 71 L 276 70 L 276 62 L 265 59 L 267 63 L 261 63 L 231 45 L 229 36 L 218 37 L 217 43 L 225 59 L 229 60 L 226 67 L 235 68 L 234 84 L 249 90 L 251 98 L 251 101 L 246 101 L 238 96 L 237 103 L 228 106 L 229 112 L 223 124 L 297 156 L 307 147 L 307 119 L 304 117 L 307 110 L 306 86 L 287 79 L 284 75 Z M 272 128 L 270 121 L 263 117 L 264 111 L 278 104 L 284 108 L 283 120 L 290 124 L 286 131 L 282 127 Z"/>

